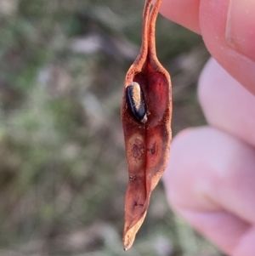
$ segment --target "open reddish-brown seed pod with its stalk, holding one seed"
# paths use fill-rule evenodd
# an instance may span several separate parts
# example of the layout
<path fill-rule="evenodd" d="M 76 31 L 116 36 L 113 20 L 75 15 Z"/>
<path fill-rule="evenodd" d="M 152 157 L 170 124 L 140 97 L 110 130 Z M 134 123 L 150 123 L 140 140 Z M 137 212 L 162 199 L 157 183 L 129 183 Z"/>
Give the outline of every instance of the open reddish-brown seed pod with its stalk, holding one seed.
<path fill-rule="evenodd" d="M 156 58 L 155 25 L 162 0 L 144 4 L 142 45 L 127 71 L 122 126 L 128 165 L 123 247 L 127 250 L 142 225 L 151 191 L 167 167 L 171 143 L 170 76 Z"/>

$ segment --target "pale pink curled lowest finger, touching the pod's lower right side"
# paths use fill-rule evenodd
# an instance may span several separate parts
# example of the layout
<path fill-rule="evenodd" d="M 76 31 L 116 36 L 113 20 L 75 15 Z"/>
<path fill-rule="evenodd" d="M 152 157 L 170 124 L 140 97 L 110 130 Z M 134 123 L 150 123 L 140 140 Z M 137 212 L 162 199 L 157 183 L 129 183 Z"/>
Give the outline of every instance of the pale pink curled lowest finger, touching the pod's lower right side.
<path fill-rule="evenodd" d="M 225 253 L 252 255 L 254 166 L 254 149 L 240 139 L 216 128 L 185 130 L 173 139 L 163 177 L 168 200 Z"/>

